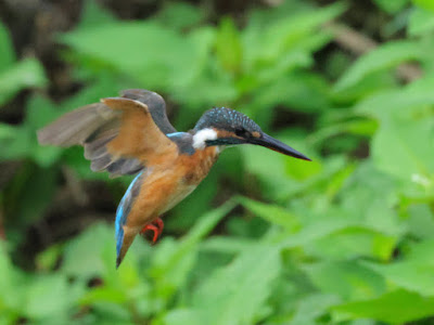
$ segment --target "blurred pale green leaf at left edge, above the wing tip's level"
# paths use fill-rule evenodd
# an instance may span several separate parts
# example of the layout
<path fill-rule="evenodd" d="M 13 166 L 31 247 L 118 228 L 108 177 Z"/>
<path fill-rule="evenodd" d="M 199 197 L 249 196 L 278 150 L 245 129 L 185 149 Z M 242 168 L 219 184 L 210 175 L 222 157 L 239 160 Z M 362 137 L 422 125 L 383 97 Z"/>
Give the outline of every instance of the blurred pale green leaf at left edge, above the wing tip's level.
<path fill-rule="evenodd" d="M 20 90 L 44 87 L 48 80 L 43 68 L 36 58 L 26 58 L 0 74 L 0 105 L 8 102 Z"/>

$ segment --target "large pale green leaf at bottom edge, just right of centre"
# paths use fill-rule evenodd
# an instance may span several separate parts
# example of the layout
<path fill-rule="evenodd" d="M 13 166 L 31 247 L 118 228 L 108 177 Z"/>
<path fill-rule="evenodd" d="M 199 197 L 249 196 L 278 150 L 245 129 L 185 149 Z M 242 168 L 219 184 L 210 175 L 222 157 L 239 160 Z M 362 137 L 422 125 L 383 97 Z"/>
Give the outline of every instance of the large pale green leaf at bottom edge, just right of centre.
<path fill-rule="evenodd" d="M 194 292 L 193 308 L 206 310 L 208 324 L 254 324 L 279 272 L 279 249 L 258 245 L 212 274 Z"/>

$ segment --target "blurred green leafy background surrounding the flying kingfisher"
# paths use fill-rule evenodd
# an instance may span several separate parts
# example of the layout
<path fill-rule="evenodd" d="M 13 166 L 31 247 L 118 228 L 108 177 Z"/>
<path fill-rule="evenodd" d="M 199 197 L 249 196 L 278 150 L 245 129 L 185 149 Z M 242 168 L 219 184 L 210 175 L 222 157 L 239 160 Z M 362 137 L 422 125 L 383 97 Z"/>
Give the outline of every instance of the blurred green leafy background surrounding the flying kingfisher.
<path fill-rule="evenodd" d="M 433 324 L 430 0 L 0 2 L 1 324 Z M 115 269 L 129 179 L 35 131 L 120 89 L 181 129 L 230 106 L 308 164 L 238 147 Z"/>

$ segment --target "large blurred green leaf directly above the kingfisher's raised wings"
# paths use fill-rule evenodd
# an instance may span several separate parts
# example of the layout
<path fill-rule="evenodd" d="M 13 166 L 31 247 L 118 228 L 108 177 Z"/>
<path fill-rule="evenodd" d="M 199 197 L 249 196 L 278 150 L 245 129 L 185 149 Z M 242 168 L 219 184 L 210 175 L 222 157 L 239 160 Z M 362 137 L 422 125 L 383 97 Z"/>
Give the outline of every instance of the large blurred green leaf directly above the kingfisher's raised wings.
<path fill-rule="evenodd" d="M 101 61 L 145 88 L 167 89 L 174 74 L 187 74 L 196 58 L 188 38 L 154 22 L 116 22 L 74 30 L 61 39 L 78 54 Z"/>

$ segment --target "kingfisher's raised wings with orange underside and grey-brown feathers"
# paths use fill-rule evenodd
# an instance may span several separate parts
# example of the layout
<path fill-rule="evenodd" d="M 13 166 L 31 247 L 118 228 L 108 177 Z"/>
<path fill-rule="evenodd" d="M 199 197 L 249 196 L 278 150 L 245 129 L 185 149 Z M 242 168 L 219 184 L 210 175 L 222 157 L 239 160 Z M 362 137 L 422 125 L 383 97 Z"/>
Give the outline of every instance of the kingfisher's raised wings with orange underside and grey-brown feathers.
<path fill-rule="evenodd" d="M 164 100 L 148 90 L 126 90 L 60 117 L 38 131 L 41 144 L 85 147 L 93 171 L 107 170 L 111 177 L 133 174 L 157 164 L 176 144 L 165 134 L 169 123 Z"/>

